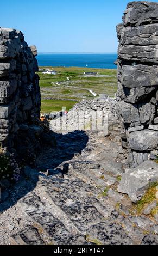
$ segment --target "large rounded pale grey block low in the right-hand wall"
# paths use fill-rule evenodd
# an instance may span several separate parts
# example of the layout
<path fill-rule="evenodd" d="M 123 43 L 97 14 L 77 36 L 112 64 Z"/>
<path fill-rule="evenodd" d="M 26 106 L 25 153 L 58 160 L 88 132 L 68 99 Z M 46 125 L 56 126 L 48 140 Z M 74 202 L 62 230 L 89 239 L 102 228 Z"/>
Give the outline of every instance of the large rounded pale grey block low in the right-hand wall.
<path fill-rule="evenodd" d="M 131 132 L 129 145 L 132 150 L 140 152 L 158 149 L 158 132 L 148 129 Z"/>

